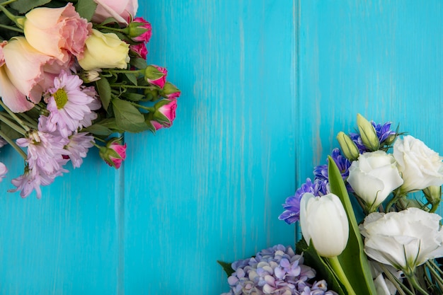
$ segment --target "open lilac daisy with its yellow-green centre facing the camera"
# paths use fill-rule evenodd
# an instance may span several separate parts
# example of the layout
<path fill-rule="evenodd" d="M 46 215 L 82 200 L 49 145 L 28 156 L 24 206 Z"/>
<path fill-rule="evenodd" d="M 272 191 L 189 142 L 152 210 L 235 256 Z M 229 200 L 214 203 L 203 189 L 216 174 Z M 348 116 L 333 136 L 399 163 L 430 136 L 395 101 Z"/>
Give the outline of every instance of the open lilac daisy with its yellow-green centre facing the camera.
<path fill-rule="evenodd" d="M 81 87 L 83 81 L 79 76 L 62 71 L 54 79 L 54 87 L 48 89 L 47 110 L 50 115 L 47 119 L 48 129 L 59 132 L 67 137 L 81 126 L 81 120 L 91 114 L 89 104 L 93 98 L 88 96 L 89 91 Z"/>

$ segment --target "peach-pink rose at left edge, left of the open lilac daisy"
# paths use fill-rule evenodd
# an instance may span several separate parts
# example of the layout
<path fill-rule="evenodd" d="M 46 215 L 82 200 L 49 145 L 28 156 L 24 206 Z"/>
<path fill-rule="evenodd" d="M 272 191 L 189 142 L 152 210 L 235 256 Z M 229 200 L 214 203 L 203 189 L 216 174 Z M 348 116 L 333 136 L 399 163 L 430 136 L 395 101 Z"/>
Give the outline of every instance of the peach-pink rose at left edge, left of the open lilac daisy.
<path fill-rule="evenodd" d="M 52 86 L 54 77 L 69 66 L 60 65 L 54 57 L 35 50 L 25 37 L 13 37 L 3 46 L 3 55 L 1 83 L 5 88 L 1 89 L 2 98 L 14 112 L 30 110 L 33 103 L 39 103 L 42 93 Z"/>

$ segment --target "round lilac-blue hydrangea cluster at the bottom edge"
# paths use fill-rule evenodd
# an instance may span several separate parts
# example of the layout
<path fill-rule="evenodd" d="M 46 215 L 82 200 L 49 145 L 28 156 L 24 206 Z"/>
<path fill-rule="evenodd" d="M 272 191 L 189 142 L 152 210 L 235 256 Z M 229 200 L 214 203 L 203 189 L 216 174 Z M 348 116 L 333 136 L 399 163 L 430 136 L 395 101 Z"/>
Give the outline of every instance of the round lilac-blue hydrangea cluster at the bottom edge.
<path fill-rule="evenodd" d="M 284 245 L 261 250 L 255 257 L 231 266 L 235 270 L 228 278 L 231 290 L 222 295 L 336 295 L 328 291 L 324 280 L 309 283 L 316 276 L 315 270 L 303 265 L 303 256 Z"/>

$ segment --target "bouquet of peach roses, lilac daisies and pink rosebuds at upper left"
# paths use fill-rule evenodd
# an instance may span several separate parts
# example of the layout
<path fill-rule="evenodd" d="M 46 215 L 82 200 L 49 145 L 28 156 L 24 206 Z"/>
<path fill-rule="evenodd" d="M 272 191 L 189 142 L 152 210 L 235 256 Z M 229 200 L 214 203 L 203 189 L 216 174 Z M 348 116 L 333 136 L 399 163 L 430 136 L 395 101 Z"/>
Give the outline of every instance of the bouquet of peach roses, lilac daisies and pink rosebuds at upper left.
<path fill-rule="evenodd" d="M 23 156 L 21 197 L 79 168 L 95 146 L 108 165 L 126 157 L 125 132 L 170 127 L 180 91 L 146 63 L 151 25 L 137 0 L 0 3 L 0 146 Z M 0 163 L 0 180 L 7 168 Z"/>

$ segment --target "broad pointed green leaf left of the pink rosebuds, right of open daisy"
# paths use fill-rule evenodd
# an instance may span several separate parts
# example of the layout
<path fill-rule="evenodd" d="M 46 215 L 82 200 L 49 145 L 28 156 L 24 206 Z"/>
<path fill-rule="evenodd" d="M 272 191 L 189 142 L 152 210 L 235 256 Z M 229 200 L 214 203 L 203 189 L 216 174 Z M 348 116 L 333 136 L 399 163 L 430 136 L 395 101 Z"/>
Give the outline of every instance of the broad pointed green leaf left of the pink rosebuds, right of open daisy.
<path fill-rule="evenodd" d="M 149 129 L 144 115 L 129 101 L 115 98 L 112 100 L 117 126 L 127 132 L 142 132 Z"/>

